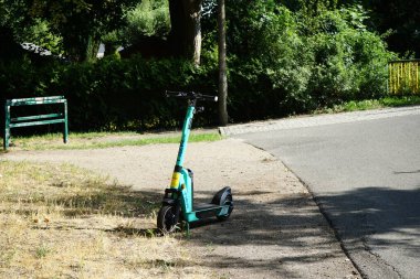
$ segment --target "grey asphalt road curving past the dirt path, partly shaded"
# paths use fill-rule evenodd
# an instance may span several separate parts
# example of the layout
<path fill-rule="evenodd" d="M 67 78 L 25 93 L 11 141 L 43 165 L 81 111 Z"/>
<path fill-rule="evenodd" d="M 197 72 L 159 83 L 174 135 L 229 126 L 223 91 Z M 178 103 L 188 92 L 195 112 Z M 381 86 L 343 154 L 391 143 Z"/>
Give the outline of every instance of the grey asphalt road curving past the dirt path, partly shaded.
<path fill-rule="evenodd" d="M 312 191 L 366 278 L 420 278 L 420 115 L 234 136 Z"/>

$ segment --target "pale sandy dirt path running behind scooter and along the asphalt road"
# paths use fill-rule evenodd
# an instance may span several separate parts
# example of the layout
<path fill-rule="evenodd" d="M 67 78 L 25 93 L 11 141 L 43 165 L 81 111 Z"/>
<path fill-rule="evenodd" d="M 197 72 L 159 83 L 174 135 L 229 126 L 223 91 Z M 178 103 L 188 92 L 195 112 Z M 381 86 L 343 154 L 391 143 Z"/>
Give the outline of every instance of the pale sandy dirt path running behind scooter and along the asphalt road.
<path fill-rule="evenodd" d="M 177 144 L 153 144 L 12 151 L 3 158 L 70 162 L 162 193 L 177 151 Z M 232 187 L 231 218 L 195 227 L 187 242 L 213 278 L 360 278 L 307 190 L 271 154 L 234 139 L 190 143 L 186 167 L 195 171 L 198 198 Z"/>

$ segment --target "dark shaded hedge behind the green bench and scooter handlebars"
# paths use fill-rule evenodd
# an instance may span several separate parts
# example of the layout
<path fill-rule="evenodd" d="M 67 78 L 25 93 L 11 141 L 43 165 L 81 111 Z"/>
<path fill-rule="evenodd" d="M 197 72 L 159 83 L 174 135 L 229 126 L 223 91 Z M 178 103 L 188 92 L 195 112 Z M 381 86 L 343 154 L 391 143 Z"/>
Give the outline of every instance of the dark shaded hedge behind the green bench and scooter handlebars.
<path fill-rule="evenodd" d="M 2 98 L 64 95 L 71 130 L 179 128 L 185 101 L 167 99 L 166 89 L 214 93 L 216 69 L 198 69 L 182 60 L 106 57 L 96 63 L 38 65 L 29 58 L 0 63 Z M 209 76 L 213 75 L 213 76 Z M 216 121 L 209 106 L 197 126 Z"/>

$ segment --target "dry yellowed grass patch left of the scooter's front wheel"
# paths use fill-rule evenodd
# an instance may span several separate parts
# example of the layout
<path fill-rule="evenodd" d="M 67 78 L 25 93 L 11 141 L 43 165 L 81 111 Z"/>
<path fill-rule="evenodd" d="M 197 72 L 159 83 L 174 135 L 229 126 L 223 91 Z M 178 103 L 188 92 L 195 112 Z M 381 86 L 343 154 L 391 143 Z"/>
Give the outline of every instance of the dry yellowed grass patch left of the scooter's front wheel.
<path fill-rule="evenodd" d="M 0 278 L 214 278 L 181 235 L 155 235 L 159 201 L 69 164 L 0 160 Z"/>

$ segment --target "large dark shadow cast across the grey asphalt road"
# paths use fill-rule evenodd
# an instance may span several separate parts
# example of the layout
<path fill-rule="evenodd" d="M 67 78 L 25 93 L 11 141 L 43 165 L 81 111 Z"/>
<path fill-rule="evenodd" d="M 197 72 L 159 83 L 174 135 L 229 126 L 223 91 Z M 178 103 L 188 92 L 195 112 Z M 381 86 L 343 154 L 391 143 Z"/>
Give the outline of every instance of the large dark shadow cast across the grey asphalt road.
<path fill-rule="evenodd" d="M 378 236 L 370 239 L 372 244 L 398 244 L 412 257 L 420 257 L 420 185 L 414 190 L 361 187 L 316 200 L 342 238 L 357 240 Z M 399 237 L 384 237 L 389 233 L 397 233 Z"/>

